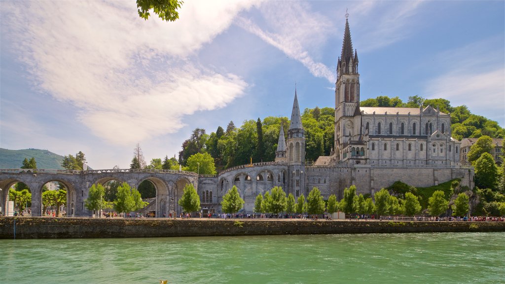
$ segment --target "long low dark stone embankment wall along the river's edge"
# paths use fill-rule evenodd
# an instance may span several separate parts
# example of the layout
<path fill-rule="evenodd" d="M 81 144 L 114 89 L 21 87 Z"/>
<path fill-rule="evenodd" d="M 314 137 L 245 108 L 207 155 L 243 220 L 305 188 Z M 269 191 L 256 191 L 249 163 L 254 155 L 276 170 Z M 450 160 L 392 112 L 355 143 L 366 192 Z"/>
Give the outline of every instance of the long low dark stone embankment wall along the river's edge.
<path fill-rule="evenodd" d="M 283 234 L 489 232 L 505 222 L 255 219 L 0 218 L 0 239 L 158 238 Z"/>

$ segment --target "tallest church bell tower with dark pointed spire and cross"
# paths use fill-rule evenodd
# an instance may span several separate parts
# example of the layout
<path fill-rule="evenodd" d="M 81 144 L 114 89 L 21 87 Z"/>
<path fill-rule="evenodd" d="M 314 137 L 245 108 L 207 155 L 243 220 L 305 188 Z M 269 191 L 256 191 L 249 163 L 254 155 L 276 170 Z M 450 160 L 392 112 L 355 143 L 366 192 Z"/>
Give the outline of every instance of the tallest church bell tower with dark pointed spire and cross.
<path fill-rule="evenodd" d="M 343 145 L 361 134 L 360 116 L 360 74 L 358 73 L 358 52 L 352 50 L 349 22 L 345 15 L 345 31 L 342 53 L 337 63 L 335 83 L 335 155 L 341 160 Z"/>

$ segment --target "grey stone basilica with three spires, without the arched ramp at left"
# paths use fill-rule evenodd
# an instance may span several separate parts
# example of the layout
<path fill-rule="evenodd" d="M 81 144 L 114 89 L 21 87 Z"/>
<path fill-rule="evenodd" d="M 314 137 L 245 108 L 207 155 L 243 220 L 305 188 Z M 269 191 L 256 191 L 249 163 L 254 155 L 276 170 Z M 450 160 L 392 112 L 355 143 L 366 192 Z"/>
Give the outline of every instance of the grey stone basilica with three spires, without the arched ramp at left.
<path fill-rule="evenodd" d="M 294 92 L 287 135 L 281 125 L 276 158 L 226 169 L 215 177 L 200 177 L 198 194 L 204 213 L 221 212 L 220 203 L 235 185 L 252 212 L 256 196 L 281 186 L 294 198 L 307 197 L 317 186 L 324 199 L 343 198 L 345 187 L 370 194 L 395 181 L 416 187 L 460 178 L 473 188 L 472 167 L 460 163 L 460 141 L 450 135 L 450 115 L 426 108 L 360 107 L 358 52 L 352 49 L 348 20 L 335 83 L 335 141 L 331 155 L 312 164 L 305 161 L 305 131 L 298 94 Z"/>

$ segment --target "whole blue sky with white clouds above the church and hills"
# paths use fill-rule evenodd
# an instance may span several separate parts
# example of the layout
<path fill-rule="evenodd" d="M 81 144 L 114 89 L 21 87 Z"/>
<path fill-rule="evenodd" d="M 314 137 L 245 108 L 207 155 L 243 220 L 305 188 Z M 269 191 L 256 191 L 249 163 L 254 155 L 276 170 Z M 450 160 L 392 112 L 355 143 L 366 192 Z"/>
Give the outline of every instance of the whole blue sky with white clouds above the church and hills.
<path fill-rule="evenodd" d="M 347 12 L 346 12 L 347 11 Z M 334 107 L 348 13 L 361 100 L 444 98 L 505 126 L 504 1 L 0 1 L 0 147 L 93 169 L 173 157 L 196 127 Z"/>

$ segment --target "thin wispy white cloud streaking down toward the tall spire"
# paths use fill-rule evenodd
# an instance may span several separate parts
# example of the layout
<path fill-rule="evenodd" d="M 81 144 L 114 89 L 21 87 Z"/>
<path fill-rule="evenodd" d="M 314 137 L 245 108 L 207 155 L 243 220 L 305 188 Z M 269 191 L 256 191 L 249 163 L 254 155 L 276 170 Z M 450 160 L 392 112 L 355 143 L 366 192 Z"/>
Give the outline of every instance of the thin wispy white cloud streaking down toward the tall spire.
<path fill-rule="evenodd" d="M 260 10 L 267 27 L 262 29 L 249 19 L 238 18 L 237 25 L 259 36 L 265 42 L 282 51 L 288 57 L 303 64 L 312 75 L 335 81 L 333 72 L 316 62 L 309 50 L 325 41 L 329 20 L 318 13 L 310 13 L 310 7 L 298 2 L 268 2 Z M 275 32 L 269 32 L 268 30 Z"/>

